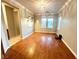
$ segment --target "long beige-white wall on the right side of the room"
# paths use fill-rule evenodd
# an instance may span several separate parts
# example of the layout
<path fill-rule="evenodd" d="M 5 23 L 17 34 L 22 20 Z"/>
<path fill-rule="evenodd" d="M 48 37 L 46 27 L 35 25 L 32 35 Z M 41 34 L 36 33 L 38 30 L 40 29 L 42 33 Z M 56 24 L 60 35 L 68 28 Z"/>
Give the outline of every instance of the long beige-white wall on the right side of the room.
<path fill-rule="evenodd" d="M 61 27 L 58 31 L 63 35 L 63 40 L 77 55 L 77 6 L 76 0 L 72 0 L 59 13 Z"/>

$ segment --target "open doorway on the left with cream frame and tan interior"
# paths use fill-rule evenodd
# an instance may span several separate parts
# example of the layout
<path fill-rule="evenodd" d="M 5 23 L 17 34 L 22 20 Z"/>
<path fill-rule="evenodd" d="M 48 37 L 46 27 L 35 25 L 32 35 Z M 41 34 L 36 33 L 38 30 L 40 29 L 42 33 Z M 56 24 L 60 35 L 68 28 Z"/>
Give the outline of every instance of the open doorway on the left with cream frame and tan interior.
<path fill-rule="evenodd" d="M 10 46 L 17 43 L 20 38 L 20 21 L 19 21 L 19 9 L 9 4 L 3 4 L 3 15 L 7 31 L 8 40 Z"/>

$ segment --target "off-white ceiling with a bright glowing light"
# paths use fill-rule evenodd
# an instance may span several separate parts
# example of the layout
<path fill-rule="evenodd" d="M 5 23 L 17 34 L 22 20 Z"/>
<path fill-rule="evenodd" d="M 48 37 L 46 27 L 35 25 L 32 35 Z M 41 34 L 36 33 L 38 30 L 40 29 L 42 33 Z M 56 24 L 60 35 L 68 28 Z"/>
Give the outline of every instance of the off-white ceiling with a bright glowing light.
<path fill-rule="evenodd" d="M 16 0 L 35 14 L 57 13 L 67 0 Z"/>

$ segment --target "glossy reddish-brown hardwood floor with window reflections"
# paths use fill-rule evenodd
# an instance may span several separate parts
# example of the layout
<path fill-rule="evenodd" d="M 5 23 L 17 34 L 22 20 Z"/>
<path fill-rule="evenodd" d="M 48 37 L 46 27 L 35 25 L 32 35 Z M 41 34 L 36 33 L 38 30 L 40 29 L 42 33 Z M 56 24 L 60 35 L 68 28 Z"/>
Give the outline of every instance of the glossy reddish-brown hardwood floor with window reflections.
<path fill-rule="evenodd" d="M 55 34 L 33 33 L 8 49 L 5 59 L 76 59 Z"/>

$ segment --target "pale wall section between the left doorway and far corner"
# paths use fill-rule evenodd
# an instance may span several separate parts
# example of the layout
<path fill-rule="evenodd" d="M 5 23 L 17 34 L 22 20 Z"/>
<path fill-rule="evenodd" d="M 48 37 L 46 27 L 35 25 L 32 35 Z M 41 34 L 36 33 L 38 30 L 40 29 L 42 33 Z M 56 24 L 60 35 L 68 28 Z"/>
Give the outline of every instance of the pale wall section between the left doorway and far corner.
<path fill-rule="evenodd" d="M 34 31 L 34 19 L 33 14 L 27 10 L 27 8 L 23 8 L 21 10 L 21 32 L 22 38 L 26 38 L 31 35 Z"/>

